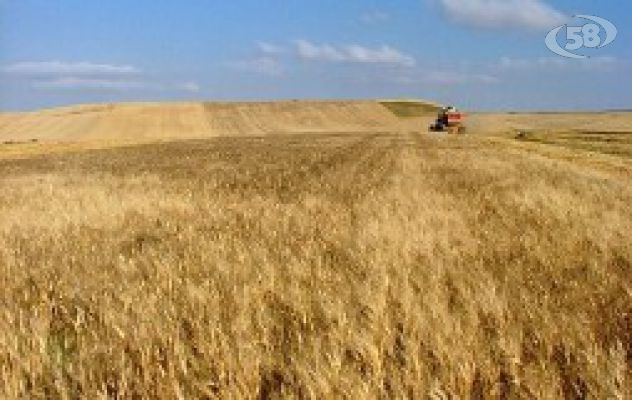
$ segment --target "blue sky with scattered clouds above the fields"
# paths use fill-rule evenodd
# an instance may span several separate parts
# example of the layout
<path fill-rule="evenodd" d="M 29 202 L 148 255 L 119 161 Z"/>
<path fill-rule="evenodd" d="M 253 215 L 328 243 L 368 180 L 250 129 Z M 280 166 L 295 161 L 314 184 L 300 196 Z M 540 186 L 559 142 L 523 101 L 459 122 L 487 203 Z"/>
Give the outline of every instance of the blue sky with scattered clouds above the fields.
<path fill-rule="evenodd" d="M 554 54 L 549 31 L 590 22 L 573 15 L 608 19 L 616 40 Z M 0 0 L 0 110 L 399 97 L 630 109 L 631 25 L 632 2 L 608 0 Z"/>

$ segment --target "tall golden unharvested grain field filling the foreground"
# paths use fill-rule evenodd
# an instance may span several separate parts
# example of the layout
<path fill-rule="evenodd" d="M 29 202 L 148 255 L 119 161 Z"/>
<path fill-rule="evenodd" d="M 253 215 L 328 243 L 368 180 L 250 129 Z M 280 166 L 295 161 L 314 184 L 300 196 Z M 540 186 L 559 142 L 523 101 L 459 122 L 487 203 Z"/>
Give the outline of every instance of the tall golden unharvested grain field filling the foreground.
<path fill-rule="evenodd" d="M 521 146 L 0 160 L 0 397 L 631 398 L 629 170 Z"/>

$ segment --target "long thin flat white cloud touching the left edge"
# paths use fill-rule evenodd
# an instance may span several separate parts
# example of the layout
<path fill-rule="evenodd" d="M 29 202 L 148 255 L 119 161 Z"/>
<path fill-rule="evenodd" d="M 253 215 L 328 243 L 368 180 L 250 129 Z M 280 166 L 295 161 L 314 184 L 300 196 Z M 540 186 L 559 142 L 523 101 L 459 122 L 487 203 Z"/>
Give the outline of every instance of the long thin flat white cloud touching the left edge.
<path fill-rule="evenodd" d="M 122 76 L 141 72 L 132 65 L 62 61 L 24 61 L 7 65 L 2 71 L 22 76 Z"/>

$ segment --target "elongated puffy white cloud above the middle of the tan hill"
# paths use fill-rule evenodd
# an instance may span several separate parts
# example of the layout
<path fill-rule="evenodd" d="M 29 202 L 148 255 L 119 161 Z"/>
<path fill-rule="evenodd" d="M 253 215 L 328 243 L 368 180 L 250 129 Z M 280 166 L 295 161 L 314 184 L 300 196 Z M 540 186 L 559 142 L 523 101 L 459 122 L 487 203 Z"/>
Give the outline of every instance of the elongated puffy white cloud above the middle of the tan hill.
<path fill-rule="evenodd" d="M 415 65 L 415 59 L 390 46 L 369 48 L 360 45 L 332 46 L 297 40 L 296 53 L 303 60 L 365 64 L 392 64 L 405 67 Z"/>

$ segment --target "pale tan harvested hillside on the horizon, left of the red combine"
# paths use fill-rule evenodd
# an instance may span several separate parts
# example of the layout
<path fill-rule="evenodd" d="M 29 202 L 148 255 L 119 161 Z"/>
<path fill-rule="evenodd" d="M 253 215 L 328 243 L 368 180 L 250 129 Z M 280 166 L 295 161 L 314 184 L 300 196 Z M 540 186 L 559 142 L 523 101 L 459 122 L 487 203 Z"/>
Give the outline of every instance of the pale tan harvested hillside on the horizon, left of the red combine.
<path fill-rule="evenodd" d="M 400 122 L 376 101 L 81 105 L 0 114 L 0 142 L 139 142 L 288 132 L 357 133 L 390 130 Z"/>

